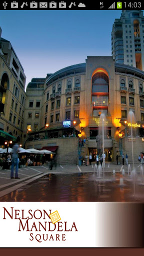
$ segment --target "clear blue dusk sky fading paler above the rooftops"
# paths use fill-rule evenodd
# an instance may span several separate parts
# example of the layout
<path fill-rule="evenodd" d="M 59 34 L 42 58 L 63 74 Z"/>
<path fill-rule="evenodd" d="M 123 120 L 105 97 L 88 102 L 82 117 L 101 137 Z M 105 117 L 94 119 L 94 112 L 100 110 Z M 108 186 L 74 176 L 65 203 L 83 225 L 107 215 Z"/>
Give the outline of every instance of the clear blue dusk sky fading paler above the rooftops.
<path fill-rule="evenodd" d="M 121 10 L 0 10 L 1 37 L 24 68 L 26 85 L 89 55 L 111 55 L 111 30 Z"/>

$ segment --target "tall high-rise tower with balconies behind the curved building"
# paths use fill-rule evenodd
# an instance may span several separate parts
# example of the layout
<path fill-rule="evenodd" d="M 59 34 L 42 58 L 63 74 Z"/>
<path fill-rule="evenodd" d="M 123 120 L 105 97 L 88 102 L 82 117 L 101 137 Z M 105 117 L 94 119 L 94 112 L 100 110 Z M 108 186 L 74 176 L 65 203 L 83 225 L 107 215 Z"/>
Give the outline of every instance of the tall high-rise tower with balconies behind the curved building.
<path fill-rule="evenodd" d="M 142 10 L 122 10 L 114 20 L 111 53 L 116 63 L 144 70 L 144 16 Z"/>

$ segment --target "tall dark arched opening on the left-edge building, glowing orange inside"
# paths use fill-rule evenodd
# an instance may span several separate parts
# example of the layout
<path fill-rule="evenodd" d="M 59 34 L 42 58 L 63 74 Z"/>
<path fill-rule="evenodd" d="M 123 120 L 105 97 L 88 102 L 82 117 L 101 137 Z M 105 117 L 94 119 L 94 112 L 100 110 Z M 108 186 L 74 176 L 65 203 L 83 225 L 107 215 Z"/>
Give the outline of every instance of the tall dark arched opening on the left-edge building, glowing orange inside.
<path fill-rule="evenodd" d="M 2 75 L 1 83 L 0 83 L 0 112 L 3 112 L 6 89 L 9 87 L 9 79 L 6 73 Z"/>

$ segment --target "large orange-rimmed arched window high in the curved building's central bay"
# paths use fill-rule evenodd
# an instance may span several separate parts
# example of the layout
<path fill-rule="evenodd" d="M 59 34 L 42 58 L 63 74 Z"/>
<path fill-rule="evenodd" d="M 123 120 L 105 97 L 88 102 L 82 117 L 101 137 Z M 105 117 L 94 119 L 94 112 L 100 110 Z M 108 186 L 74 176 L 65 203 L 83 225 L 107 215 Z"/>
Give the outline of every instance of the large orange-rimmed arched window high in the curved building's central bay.
<path fill-rule="evenodd" d="M 92 92 L 108 92 L 108 76 L 99 72 L 92 76 Z"/>

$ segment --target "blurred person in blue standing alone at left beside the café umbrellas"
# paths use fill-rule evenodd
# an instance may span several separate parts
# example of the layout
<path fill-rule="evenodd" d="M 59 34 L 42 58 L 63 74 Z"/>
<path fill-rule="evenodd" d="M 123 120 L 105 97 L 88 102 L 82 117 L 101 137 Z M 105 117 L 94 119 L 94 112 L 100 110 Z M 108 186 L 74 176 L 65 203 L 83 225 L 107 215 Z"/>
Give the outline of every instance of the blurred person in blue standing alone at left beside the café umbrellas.
<path fill-rule="evenodd" d="M 19 149 L 19 140 L 16 140 L 16 143 L 12 147 L 12 160 L 11 160 L 11 171 L 10 178 L 13 177 L 13 170 L 15 166 L 15 178 L 18 179 L 18 149 Z"/>

